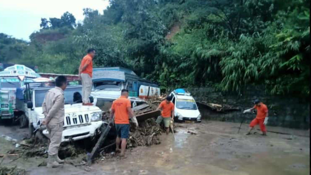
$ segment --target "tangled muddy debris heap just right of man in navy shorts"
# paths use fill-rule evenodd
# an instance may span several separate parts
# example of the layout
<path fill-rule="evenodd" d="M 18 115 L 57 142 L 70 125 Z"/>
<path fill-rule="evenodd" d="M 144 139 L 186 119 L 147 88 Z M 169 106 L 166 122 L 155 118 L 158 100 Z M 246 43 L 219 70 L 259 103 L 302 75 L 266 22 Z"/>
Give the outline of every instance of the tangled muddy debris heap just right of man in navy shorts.
<path fill-rule="evenodd" d="M 163 127 L 156 123 L 154 118 L 149 118 L 139 123 L 139 127 L 131 126 L 130 138 L 128 139 L 128 148 L 137 146 L 149 146 L 160 144 L 159 135 L 164 132 Z"/>

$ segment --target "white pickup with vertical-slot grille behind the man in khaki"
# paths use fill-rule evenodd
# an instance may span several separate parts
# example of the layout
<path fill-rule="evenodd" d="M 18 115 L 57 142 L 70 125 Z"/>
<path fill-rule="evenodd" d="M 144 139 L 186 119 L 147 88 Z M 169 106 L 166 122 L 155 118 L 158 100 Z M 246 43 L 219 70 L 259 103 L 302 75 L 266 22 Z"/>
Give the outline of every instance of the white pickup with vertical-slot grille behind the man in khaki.
<path fill-rule="evenodd" d="M 44 126 L 39 127 L 44 120 L 42 114 L 42 103 L 45 94 L 54 87 L 54 82 L 37 82 L 26 84 L 26 99 L 28 99 L 25 111 L 29 120 L 30 132 L 39 128 L 39 133 L 48 136 Z M 81 85 L 68 85 L 64 91 L 65 116 L 62 142 L 92 138 L 100 134 L 100 127 L 103 124 L 102 111 L 96 106 L 82 106 L 81 101 L 74 102 L 73 94 L 82 91 Z M 38 132 L 37 131 L 37 132 Z"/>

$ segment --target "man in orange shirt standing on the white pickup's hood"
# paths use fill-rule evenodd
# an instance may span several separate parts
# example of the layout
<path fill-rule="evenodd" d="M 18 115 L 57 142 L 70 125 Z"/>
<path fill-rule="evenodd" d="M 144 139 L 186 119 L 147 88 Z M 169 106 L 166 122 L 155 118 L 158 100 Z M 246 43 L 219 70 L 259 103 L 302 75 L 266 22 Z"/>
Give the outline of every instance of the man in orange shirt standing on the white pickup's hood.
<path fill-rule="evenodd" d="M 90 103 L 89 96 L 92 90 L 92 73 L 93 73 L 93 58 L 95 49 L 87 50 L 87 55 L 82 59 L 79 67 L 79 77 L 82 82 L 82 105 L 93 105 Z"/>

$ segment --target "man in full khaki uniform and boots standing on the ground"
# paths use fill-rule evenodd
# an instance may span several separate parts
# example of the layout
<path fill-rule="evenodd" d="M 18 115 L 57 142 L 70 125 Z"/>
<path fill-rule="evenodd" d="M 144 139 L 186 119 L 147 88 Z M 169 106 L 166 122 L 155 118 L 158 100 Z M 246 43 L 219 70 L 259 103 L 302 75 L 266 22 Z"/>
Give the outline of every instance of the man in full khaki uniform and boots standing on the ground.
<path fill-rule="evenodd" d="M 59 163 L 64 163 L 58 157 L 58 148 L 62 141 L 65 117 L 64 90 L 67 87 L 67 78 L 65 76 L 58 76 L 55 84 L 56 87 L 48 91 L 42 104 L 42 110 L 45 116 L 42 125 L 46 125 L 50 139 L 48 168 L 62 167 L 63 165 Z"/>

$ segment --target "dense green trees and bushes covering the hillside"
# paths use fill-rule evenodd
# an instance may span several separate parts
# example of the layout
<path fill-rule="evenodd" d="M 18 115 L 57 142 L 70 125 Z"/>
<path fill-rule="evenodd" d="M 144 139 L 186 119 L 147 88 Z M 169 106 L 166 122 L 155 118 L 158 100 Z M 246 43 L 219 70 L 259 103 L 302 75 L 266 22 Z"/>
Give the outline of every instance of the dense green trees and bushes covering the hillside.
<path fill-rule="evenodd" d="M 94 47 L 96 67 L 128 67 L 163 89 L 309 95 L 308 0 L 110 0 L 104 15 L 84 15 L 42 19 L 29 44 L 0 35 L 1 60 L 77 73 Z"/>

